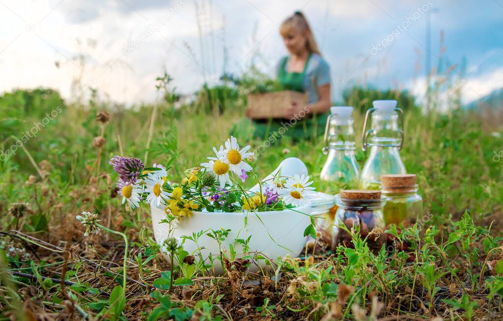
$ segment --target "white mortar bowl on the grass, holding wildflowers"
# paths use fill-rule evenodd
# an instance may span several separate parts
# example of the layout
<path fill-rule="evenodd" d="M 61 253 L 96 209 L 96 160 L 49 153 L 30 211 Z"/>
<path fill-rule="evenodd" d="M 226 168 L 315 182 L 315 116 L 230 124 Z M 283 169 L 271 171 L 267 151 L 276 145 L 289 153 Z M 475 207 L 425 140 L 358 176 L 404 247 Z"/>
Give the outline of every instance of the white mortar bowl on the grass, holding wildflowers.
<path fill-rule="evenodd" d="M 162 246 L 164 240 L 169 236 L 170 225 L 168 223 L 160 223 L 166 217 L 163 209 L 151 206 L 150 212 L 155 241 Z M 248 244 L 251 252 L 262 253 L 273 262 L 276 262 L 278 256 L 285 257 L 286 255 L 290 255 L 297 257 L 300 254 L 306 242 L 303 234 L 307 225 L 310 224 L 309 214 L 309 205 L 297 207 L 295 210 L 286 209 L 283 211 L 268 212 L 192 212 L 191 217 L 184 218 L 181 222 L 175 223 L 173 226 L 173 236 L 192 236 L 192 233 L 198 233 L 201 230 L 205 231 L 207 229 L 230 229 L 229 235 L 222 242 L 222 251 L 225 250 L 228 254 L 229 244 L 234 245 L 234 239 L 246 239 L 251 235 Z M 245 217 L 248 219 L 246 227 L 244 226 Z M 201 250 L 204 259 L 208 258 L 210 253 L 212 254 L 214 258 L 213 272 L 215 274 L 222 274 L 221 264 L 217 260 L 220 252 L 216 240 L 205 233 L 199 238 L 198 244 L 200 247 L 204 247 Z M 193 241 L 185 241 L 184 250 L 189 252 L 189 254 L 193 254 L 197 248 L 197 245 Z M 244 256 L 241 245 L 235 245 L 234 250 L 236 251 L 236 258 Z M 163 256 L 166 260 L 169 260 L 166 254 L 163 253 Z M 206 262 L 209 262 L 209 260 Z M 258 265 L 263 266 L 264 260 L 255 261 L 255 263 L 250 264 L 249 271 L 258 271 L 260 269 Z"/>

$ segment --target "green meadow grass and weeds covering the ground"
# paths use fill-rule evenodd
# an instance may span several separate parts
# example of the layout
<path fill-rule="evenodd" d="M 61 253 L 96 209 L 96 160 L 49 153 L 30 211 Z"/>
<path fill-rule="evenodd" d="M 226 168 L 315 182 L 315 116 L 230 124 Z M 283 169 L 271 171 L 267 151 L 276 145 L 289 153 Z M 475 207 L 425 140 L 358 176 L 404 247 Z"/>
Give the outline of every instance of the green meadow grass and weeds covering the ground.
<path fill-rule="evenodd" d="M 46 112 L 55 107 L 46 106 Z M 106 142 L 100 149 L 92 140 L 101 134 L 95 117 L 105 108 L 112 116 L 103 128 Z M 97 100 L 86 106 L 62 106 L 62 112 L 26 142 L 26 152 L 20 148 L 0 163 L 0 318 L 13 313 L 58 313 L 73 319 L 503 316 L 503 159 L 493 161 L 494 152 L 503 149 L 503 139 L 477 114 L 455 110 L 422 115 L 414 109 L 406 113 L 401 156 L 407 171 L 417 174 L 430 220 L 390 233 L 396 234 L 395 242 L 410 244 L 412 263 L 404 252 L 381 251 L 375 256 L 355 237 L 354 250 L 339 248 L 300 260 L 272 258 L 279 268 L 271 273 L 245 275 L 236 270 L 217 278 L 200 264 L 192 274 L 188 265 L 171 271 L 153 241 L 148 208 L 132 212 L 119 197 L 111 197 L 117 177 L 107 163 L 116 154 L 144 159 L 148 152 L 148 166 L 176 156 L 169 174 L 171 181 L 180 181 L 185 169 L 205 161 L 211 148 L 228 138 L 232 124 L 243 115 L 242 104 L 223 114 L 175 111 L 159 104 L 147 148 L 152 110 L 153 106 L 126 110 Z M 0 132 L 2 150 L 15 143 L 12 135 L 22 136 L 44 114 L 16 114 L 14 106 L 2 107 L 0 118 L 11 122 Z M 363 116 L 356 115 L 358 133 L 362 123 Z M 358 135 L 357 144 L 360 141 Z M 261 141 L 249 143 L 257 147 Z M 284 139 L 251 165 L 264 176 L 284 157 L 299 157 L 317 189 L 334 192 L 334 186 L 318 180 L 325 161 L 321 147 L 321 139 L 296 144 Z M 357 153 L 361 166 L 365 157 Z M 27 183 L 29 175 L 35 176 L 35 183 Z M 13 203 L 20 202 L 29 203 L 29 208 L 14 211 Z M 81 211 L 98 213 L 104 226 L 128 236 L 127 275 L 133 280 L 127 281 L 125 297 L 120 291 L 122 238 L 105 232 L 83 237 L 75 219 Z M 178 284 L 186 285 L 175 285 L 170 296 L 171 273 L 181 280 Z M 260 280 L 260 286 L 245 278 Z"/>

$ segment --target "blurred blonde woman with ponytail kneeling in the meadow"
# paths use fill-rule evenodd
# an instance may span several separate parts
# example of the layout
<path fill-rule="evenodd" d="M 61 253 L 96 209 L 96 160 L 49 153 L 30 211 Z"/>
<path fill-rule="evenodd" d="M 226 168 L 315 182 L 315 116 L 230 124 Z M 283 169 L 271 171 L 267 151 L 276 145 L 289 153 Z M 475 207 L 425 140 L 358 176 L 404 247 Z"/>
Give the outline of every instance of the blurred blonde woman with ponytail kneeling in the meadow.
<path fill-rule="evenodd" d="M 309 139 L 324 131 L 331 106 L 328 63 L 321 57 L 311 27 L 301 12 L 295 12 L 283 22 L 280 34 L 288 55 L 282 57 L 276 66 L 277 80 L 285 90 L 307 93 L 308 105 L 291 102 L 284 118 L 254 119 L 251 127 L 239 122 L 231 131 L 235 135 L 243 131 L 249 135 L 251 128 L 253 137 L 267 139 L 279 128 L 285 127 L 285 121 L 292 119 L 296 119 L 295 125 L 288 126 L 284 136 L 290 136 L 293 140 Z M 300 119 L 299 116 L 304 117 Z"/>

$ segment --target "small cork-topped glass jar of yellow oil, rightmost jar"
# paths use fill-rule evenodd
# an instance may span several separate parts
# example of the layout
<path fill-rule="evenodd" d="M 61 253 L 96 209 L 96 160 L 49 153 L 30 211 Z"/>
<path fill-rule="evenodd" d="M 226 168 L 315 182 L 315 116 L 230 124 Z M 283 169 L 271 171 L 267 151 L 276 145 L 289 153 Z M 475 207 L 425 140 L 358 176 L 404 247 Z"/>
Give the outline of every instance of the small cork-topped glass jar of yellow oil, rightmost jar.
<path fill-rule="evenodd" d="M 415 174 L 381 176 L 382 195 L 388 198 L 384 205 L 384 222 L 400 224 L 404 220 L 415 223 L 423 216 L 423 198 L 417 193 Z"/>

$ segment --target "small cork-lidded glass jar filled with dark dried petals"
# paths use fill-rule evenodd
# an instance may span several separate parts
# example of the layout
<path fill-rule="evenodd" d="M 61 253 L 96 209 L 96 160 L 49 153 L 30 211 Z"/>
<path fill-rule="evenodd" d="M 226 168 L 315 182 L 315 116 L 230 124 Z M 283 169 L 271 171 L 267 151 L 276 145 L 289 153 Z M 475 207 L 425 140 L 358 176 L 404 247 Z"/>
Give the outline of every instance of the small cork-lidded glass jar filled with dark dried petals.
<path fill-rule="evenodd" d="M 338 206 L 336 218 L 332 229 L 332 251 L 339 245 L 353 248 L 351 235 L 341 226 L 347 229 L 359 226 L 360 237 L 367 238 L 369 249 L 377 254 L 385 242 L 383 230 L 385 227 L 382 208 L 386 198 L 381 197 L 381 191 L 371 190 L 342 190 L 336 195 Z"/>

